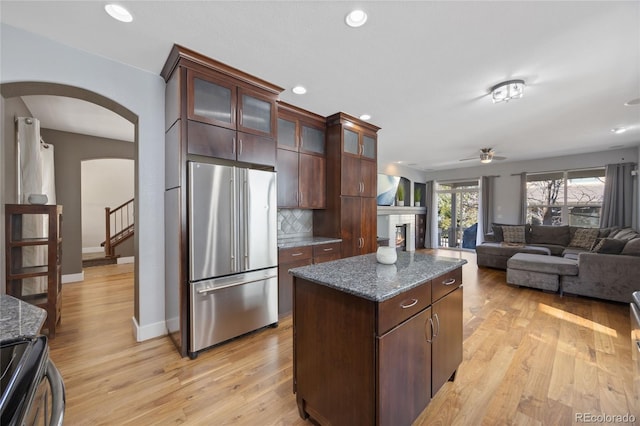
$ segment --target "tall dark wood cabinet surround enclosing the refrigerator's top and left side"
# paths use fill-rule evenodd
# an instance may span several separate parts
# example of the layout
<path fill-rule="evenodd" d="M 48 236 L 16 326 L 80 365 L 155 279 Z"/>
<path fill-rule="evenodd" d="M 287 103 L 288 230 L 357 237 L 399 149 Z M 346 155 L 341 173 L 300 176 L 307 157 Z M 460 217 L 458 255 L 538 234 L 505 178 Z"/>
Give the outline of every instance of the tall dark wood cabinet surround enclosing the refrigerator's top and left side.
<path fill-rule="evenodd" d="M 187 355 L 189 331 L 187 161 L 276 165 L 282 88 L 174 45 L 165 89 L 165 321 Z"/>

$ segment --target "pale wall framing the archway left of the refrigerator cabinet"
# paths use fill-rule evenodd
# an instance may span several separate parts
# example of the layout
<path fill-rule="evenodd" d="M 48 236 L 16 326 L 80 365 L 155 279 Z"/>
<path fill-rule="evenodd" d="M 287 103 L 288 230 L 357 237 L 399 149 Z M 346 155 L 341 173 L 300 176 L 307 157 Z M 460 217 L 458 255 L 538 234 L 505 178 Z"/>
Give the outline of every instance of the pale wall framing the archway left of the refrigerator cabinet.
<path fill-rule="evenodd" d="M 164 334 L 164 149 L 158 149 L 164 141 L 164 80 L 0 25 L 0 83 L 36 81 L 76 86 L 108 97 L 137 114 L 135 238 L 139 256 L 134 331 L 138 340 Z"/>

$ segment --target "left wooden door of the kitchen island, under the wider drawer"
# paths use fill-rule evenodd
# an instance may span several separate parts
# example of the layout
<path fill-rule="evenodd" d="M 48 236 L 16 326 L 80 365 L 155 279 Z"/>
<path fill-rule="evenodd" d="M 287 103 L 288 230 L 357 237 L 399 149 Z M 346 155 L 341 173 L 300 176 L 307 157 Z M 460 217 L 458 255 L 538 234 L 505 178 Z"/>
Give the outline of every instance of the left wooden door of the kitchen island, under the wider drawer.
<path fill-rule="evenodd" d="M 431 308 L 378 340 L 379 425 L 410 425 L 431 400 Z"/>

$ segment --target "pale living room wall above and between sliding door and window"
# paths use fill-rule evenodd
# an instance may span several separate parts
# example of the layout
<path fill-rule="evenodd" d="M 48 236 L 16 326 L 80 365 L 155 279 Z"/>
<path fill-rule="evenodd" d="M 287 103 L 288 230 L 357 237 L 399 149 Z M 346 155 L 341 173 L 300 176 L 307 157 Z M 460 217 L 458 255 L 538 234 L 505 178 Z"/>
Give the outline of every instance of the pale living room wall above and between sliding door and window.
<path fill-rule="evenodd" d="M 638 162 L 639 160 L 640 148 L 634 147 L 504 164 L 501 164 L 499 161 L 494 161 L 491 164 L 481 165 L 478 167 L 430 172 L 427 173 L 425 177 L 427 180 L 438 181 L 499 175 L 500 177 L 496 179 L 495 187 L 495 220 L 496 222 L 503 223 L 518 223 L 520 216 L 520 176 L 512 175 L 522 172 L 534 173 L 601 167 L 607 164 Z M 636 224 L 637 223 L 638 214 L 636 212 Z"/>

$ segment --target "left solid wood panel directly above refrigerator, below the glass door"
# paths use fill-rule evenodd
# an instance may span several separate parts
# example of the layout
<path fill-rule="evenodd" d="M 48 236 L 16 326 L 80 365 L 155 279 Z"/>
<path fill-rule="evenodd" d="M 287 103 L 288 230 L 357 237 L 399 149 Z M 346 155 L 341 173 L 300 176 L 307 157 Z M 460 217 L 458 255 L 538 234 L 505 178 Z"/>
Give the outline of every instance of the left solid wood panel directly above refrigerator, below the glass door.
<path fill-rule="evenodd" d="M 189 120 L 187 152 L 208 157 L 236 159 L 236 131 Z"/>

